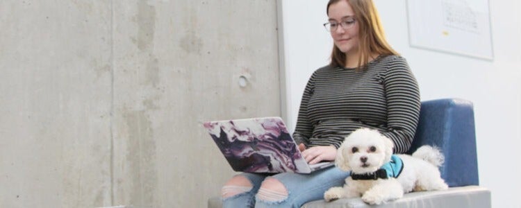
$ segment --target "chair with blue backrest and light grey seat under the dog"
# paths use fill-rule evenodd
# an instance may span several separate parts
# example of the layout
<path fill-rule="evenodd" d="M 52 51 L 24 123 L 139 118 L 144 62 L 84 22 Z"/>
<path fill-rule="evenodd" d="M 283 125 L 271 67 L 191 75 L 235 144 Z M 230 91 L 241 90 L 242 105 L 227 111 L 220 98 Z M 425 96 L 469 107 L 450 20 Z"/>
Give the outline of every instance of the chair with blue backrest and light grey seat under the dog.
<path fill-rule="evenodd" d="M 441 176 L 446 191 L 407 193 L 404 198 L 376 207 L 491 207 L 490 191 L 479 187 L 474 110 L 470 101 L 439 99 L 422 102 L 420 121 L 409 153 L 429 144 L 445 155 Z M 222 207 L 220 198 L 210 198 L 208 207 Z M 316 200 L 302 207 L 374 207 L 361 198 L 333 202 Z"/>

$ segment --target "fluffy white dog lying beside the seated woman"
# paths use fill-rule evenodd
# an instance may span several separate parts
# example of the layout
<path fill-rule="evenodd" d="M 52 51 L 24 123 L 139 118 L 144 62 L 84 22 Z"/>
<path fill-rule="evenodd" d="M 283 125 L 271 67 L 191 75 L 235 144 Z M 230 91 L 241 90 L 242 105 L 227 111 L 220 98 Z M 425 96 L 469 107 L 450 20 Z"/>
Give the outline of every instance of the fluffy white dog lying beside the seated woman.
<path fill-rule="evenodd" d="M 339 198 L 362 197 L 370 205 L 402 198 L 411 191 L 445 190 L 438 166 L 443 155 L 438 148 L 422 146 L 413 155 L 392 155 L 394 145 L 377 130 L 361 128 L 345 138 L 338 148 L 335 164 L 351 171 L 344 187 L 324 193 L 327 202 Z"/>

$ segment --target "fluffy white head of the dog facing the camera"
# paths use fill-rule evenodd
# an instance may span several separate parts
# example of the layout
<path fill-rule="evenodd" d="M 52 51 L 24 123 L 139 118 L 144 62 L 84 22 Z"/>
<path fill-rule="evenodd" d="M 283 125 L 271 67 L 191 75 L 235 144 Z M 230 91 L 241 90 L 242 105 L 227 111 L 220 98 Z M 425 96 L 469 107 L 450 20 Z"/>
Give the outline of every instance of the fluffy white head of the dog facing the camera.
<path fill-rule="evenodd" d="M 355 130 L 338 148 L 335 164 L 342 171 L 372 173 L 390 161 L 394 145 L 377 130 Z"/>

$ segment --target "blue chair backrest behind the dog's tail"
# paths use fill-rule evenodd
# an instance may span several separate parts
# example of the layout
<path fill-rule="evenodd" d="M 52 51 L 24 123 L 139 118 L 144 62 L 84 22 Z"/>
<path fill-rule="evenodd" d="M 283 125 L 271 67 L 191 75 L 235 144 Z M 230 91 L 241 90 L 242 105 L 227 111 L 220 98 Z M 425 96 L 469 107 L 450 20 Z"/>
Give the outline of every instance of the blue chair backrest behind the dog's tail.
<path fill-rule="evenodd" d="M 438 146 L 445 155 L 440 172 L 449 187 L 479 185 L 474 107 L 470 101 L 455 98 L 423 101 L 408 153 L 425 144 Z"/>

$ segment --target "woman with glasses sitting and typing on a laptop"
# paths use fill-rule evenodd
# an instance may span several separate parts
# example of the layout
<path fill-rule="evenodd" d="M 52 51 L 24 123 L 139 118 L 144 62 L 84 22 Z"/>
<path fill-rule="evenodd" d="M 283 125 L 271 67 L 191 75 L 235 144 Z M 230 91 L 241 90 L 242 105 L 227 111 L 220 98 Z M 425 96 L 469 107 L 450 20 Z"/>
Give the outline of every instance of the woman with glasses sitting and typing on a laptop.
<path fill-rule="evenodd" d="M 366 127 L 392 139 L 395 153 L 411 146 L 420 95 L 406 60 L 383 37 L 371 0 L 330 0 L 324 24 L 333 37 L 331 63 L 317 69 L 302 96 L 293 136 L 309 164 L 332 161 L 343 139 Z M 336 167 L 311 174 L 242 173 L 222 188 L 224 207 L 301 207 L 342 186 Z"/>

